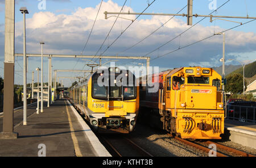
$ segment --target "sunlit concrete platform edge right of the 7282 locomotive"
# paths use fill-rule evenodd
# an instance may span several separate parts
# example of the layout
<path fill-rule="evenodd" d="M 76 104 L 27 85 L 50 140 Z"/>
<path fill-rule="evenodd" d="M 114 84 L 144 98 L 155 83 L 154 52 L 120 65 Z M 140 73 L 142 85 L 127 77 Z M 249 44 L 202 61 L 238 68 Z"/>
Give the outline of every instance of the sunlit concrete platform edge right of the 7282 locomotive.
<path fill-rule="evenodd" d="M 256 124 L 225 120 L 225 136 L 230 141 L 256 149 Z"/>

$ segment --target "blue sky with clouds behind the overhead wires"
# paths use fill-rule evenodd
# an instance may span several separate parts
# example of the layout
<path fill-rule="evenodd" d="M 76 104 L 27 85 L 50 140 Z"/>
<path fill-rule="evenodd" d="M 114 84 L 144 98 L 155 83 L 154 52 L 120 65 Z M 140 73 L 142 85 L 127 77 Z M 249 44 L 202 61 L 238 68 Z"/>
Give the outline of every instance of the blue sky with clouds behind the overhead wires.
<path fill-rule="evenodd" d="M 43 0 L 42 0 L 43 1 Z M 27 18 L 27 53 L 40 53 L 39 41 L 46 41 L 44 46 L 44 53 L 47 54 L 80 54 L 84 47 L 85 41 L 88 38 L 90 29 L 96 17 L 98 7 L 101 1 L 75 1 L 75 0 L 46 0 L 46 10 L 40 10 L 38 5 L 42 1 L 36 0 L 19 0 L 16 1 L 15 6 L 15 52 L 23 52 L 23 36 L 22 36 L 22 14 L 20 7 L 26 6 L 30 14 Z M 221 6 L 227 0 L 194 0 L 193 14 L 208 15 L 213 10 L 209 9 L 209 3 L 216 2 L 217 7 Z M 4 23 L 5 23 L 5 1 L 0 0 L 0 76 L 3 76 L 3 60 L 4 60 Z M 112 0 L 104 1 L 96 25 L 94 26 L 92 35 L 86 45 L 83 54 L 95 54 L 98 48 L 104 41 L 107 33 L 114 22 L 114 18 L 105 20 L 103 12 L 105 10 L 118 12 L 125 1 Z M 150 3 L 152 0 L 149 1 Z M 134 12 L 141 12 L 147 7 L 147 0 L 127 0 L 125 12 L 128 10 Z M 176 13 L 187 5 L 187 1 L 167 1 L 156 0 L 145 12 L 155 13 Z M 256 1 L 254 0 L 231 0 L 226 5 L 221 7 L 213 15 L 231 15 L 231 16 L 256 16 L 255 11 Z M 187 13 L 184 9 L 180 13 Z M 135 18 L 135 16 L 125 16 L 123 18 Z M 174 38 L 179 33 L 183 32 L 189 26 L 186 25 L 186 18 L 177 16 L 167 23 L 166 26 L 156 31 L 152 36 L 148 37 L 142 43 L 136 45 L 134 48 L 121 52 L 131 45 L 137 43 L 143 37 L 149 35 L 156 30 L 164 22 L 170 19 L 171 16 L 140 16 L 123 35 L 104 53 L 104 55 L 120 56 L 143 56 L 158 48 L 166 41 Z M 193 23 L 196 23 L 201 18 L 193 18 Z M 247 19 L 230 19 L 236 22 L 247 22 Z M 102 47 L 105 50 L 108 44 L 112 41 L 130 24 L 129 20 L 118 19 L 110 37 Z M 160 70 L 177 68 L 180 66 L 220 66 L 219 61 L 222 57 L 222 36 L 214 36 L 208 40 L 202 41 L 190 47 L 181 49 L 177 52 L 167 54 L 164 57 L 153 60 L 157 56 L 171 52 L 179 47 L 191 44 L 195 41 L 201 40 L 204 37 L 212 35 L 214 32 L 224 31 L 228 28 L 237 26 L 238 23 L 226 22 L 223 20 L 215 20 L 210 23 L 209 18 L 204 19 L 197 26 L 185 32 L 179 38 L 164 47 L 152 52 L 148 56 L 151 57 L 151 66 L 159 66 Z M 101 51 L 101 52 L 102 52 Z M 253 60 L 256 58 L 256 21 L 248 23 L 244 26 L 235 28 L 226 32 L 226 60 L 234 58 L 238 60 Z M 98 60 L 94 60 L 98 61 Z M 109 60 L 103 60 L 106 62 Z M 31 81 L 31 72 L 40 66 L 39 58 L 29 58 L 28 60 L 28 83 Z M 82 69 L 86 61 L 75 58 L 55 58 L 52 62 L 53 69 Z M 134 62 L 122 60 L 118 61 L 118 65 L 138 65 L 138 63 L 146 62 L 137 60 Z M 227 61 L 226 64 L 239 64 L 236 61 Z M 23 58 L 18 57 L 15 60 L 15 83 L 22 84 L 22 66 Z M 48 60 L 44 59 L 44 80 L 48 79 Z M 86 66 L 84 67 L 86 68 Z M 84 75 L 82 73 L 60 73 L 59 76 Z M 70 79 L 64 80 L 64 85 L 71 85 L 73 81 Z"/>

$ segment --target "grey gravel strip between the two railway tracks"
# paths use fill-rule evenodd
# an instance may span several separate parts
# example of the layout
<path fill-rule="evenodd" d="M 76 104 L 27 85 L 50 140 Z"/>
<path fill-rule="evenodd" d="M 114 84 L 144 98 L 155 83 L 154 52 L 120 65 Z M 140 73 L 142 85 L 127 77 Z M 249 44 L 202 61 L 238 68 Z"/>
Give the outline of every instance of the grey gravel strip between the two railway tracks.
<path fill-rule="evenodd" d="M 208 153 L 201 152 L 168 136 L 167 132 L 151 128 L 147 125 L 137 123 L 136 129 L 130 137 L 131 140 L 156 157 L 208 156 Z"/>

